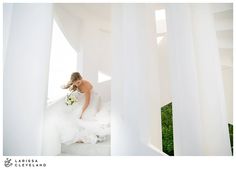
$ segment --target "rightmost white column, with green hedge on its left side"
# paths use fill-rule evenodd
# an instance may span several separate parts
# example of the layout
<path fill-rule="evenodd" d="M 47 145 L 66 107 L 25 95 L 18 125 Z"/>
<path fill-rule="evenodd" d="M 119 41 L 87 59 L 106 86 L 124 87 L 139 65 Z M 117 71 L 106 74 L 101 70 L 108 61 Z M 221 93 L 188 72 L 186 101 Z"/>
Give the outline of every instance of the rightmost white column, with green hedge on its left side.
<path fill-rule="evenodd" d="M 175 155 L 230 155 L 221 67 L 207 4 L 168 4 Z"/>

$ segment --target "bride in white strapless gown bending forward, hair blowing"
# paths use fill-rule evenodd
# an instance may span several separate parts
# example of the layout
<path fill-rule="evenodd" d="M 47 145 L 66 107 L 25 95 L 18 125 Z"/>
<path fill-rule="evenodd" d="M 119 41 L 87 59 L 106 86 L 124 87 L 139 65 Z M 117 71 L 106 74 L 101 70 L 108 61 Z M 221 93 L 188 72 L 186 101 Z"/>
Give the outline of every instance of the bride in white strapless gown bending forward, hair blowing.
<path fill-rule="evenodd" d="M 104 141 L 109 135 L 110 125 L 108 122 L 104 123 L 104 118 L 101 119 L 98 116 L 102 114 L 101 111 L 98 112 L 99 96 L 93 91 L 92 84 L 84 80 L 79 72 L 74 72 L 64 89 L 74 92 L 79 103 L 69 112 L 73 118 L 69 118 L 71 119 L 69 122 L 72 123 L 73 127 L 68 127 L 71 125 L 63 126 L 65 128 L 61 132 L 61 138 L 65 136 L 66 139 L 62 143 L 95 144 Z M 69 137 L 68 133 L 71 133 Z"/>

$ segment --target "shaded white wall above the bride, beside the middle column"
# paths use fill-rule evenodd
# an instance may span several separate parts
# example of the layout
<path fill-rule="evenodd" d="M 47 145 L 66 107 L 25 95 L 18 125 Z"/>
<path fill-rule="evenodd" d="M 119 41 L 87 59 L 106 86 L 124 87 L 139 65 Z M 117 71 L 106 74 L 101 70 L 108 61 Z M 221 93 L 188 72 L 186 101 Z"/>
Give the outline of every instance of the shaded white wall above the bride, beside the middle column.
<path fill-rule="evenodd" d="M 109 23 L 98 20 L 83 22 L 84 76 L 91 80 L 102 100 L 110 100 L 111 82 L 98 83 L 98 71 L 111 76 L 111 33 Z"/>

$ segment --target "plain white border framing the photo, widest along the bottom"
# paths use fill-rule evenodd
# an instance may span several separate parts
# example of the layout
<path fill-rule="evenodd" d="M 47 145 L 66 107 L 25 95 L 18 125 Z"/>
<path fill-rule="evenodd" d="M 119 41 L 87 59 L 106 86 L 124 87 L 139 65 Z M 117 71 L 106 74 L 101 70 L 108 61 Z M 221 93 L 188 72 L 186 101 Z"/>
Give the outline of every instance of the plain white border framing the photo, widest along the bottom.
<path fill-rule="evenodd" d="M 233 3 L 234 1 L 232 0 L 208 0 L 203 1 L 203 0 L 185 0 L 185 1 L 156 1 L 156 0 L 4 0 L 3 3 Z M 234 3 L 234 9 L 235 9 L 235 3 Z M 1 23 L 2 23 L 2 6 L 0 10 L 0 15 L 1 15 Z M 233 18 L 235 18 L 235 12 L 233 14 Z M 235 19 L 234 19 L 234 27 L 235 27 Z M 235 40 L 235 34 L 233 34 L 234 37 L 233 39 Z M 1 37 L 3 37 L 3 30 L 1 26 Z M 3 38 L 2 38 L 3 39 Z M 1 51 L 2 51 L 2 40 L 1 40 Z M 235 43 L 234 43 L 234 49 Z M 234 58 L 235 58 L 235 52 L 234 52 Z M 233 61 L 233 65 L 235 67 L 235 59 Z M 0 70 L 1 70 L 1 75 L 0 75 L 0 110 L 1 110 L 1 126 L 3 126 L 3 66 L 2 66 L 2 59 L 1 59 L 1 64 L 0 64 Z M 233 72 L 233 77 L 234 77 L 234 84 L 235 84 L 235 69 Z M 235 90 L 233 90 L 234 94 L 234 99 L 233 99 L 233 106 L 235 107 Z M 235 114 L 235 113 L 234 113 Z M 234 124 L 235 124 L 235 116 L 234 116 Z M 1 138 L 3 138 L 3 130 L 1 129 L 0 132 Z M 16 140 L 17 141 L 17 140 Z M 2 144 L 3 140 L 0 140 L 0 152 L 1 152 L 1 162 L 0 162 L 0 168 L 3 168 L 4 165 L 4 160 L 6 159 L 5 156 L 2 156 L 3 154 L 3 147 Z M 235 145 L 235 139 L 234 139 L 234 145 Z M 235 150 L 234 150 L 235 151 Z M 235 154 L 235 152 L 234 152 Z M 38 161 L 45 162 L 47 164 L 47 167 L 45 168 L 76 168 L 76 169 L 85 169 L 85 168 L 109 168 L 109 169 L 122 169 L 122 168 L 131 168 L 131 169 L 136 169 L 136 168 L 146 168 L 146 169 L 162 169 L 162 168 L 171 168 L 175 169 L 177 167 L 184 169 L 184 168 L 191 168 L 191 169 L 199 169 L 199 168 L 232 168 L 232 166 L 235 166 L 236 164 L 236 158 L 235 155 L 233 157 L 168 157 L 168 156 L 106 156 L 106 157 L 96 157 L 96 156 L 90 156 L 90 157 L 82 157 L 82 156 L 11 156 L 10 158 L 13 159 L 25 159 L 25 158 L 31 158 L 31 159 L 37 159 Z M 13 167 L 12 167 L 13 168 Z M 29 167 L 28 167 L 29 168 Z"/>

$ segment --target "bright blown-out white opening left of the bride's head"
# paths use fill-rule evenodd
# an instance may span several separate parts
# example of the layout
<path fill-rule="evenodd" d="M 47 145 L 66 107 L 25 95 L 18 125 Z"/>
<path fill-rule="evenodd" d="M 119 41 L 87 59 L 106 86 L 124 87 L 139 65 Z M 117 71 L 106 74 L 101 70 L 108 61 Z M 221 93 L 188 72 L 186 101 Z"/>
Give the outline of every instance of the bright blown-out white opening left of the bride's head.
<path fill-rule="evenodd" d="M 49 67 L 48 102 L 66 94 L 61 87 L 76 71 L 77 53 L 71 47 L 56 21 L 53 21 L 52 47 Z"/>

